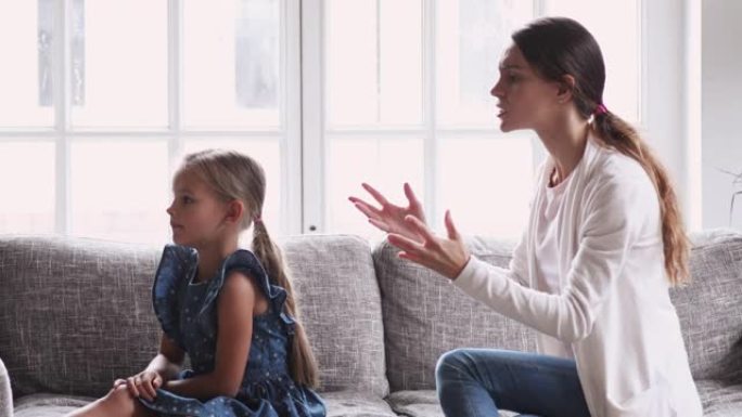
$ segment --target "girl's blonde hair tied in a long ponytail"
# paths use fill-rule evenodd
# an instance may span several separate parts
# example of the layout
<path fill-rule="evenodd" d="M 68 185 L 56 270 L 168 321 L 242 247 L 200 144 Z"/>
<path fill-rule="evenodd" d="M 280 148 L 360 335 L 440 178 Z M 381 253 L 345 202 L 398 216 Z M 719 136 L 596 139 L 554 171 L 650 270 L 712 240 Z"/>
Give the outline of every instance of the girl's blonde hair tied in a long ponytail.
<path fill-rule="evenodd" d="M 253 252 L 269 278 L 286 290 L 285 313 L 296 321 L 295 334 L 291 341 L 291 375 L 296 382 L 316 388 L 319 385 L 317 362 L 304 326 L 299 322 L 290 272 L 281 250 L 271 240 L 261 220 L 266 197 L 266 174 L 263 167 L 255 159 L 238 152 L 207 149 L 187 155 L 176 175 L 183 171 L 199 175 L 225 201 L 240 200 L 245 205 L 241 230 L 254 224 Z"/>

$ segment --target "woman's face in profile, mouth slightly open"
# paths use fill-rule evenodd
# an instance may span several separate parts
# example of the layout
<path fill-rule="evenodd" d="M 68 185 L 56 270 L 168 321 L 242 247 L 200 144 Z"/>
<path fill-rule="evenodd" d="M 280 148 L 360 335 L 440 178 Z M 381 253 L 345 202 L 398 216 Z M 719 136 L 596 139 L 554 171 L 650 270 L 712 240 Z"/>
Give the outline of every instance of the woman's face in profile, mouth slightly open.
<path fill-rule="evenodd" d="M 539 77 L 515 44 L 508 48 L 500 78 L 489 92 L 498 99 L 500 130 L 543 129 L 559 107 L 559 87 Z"/>

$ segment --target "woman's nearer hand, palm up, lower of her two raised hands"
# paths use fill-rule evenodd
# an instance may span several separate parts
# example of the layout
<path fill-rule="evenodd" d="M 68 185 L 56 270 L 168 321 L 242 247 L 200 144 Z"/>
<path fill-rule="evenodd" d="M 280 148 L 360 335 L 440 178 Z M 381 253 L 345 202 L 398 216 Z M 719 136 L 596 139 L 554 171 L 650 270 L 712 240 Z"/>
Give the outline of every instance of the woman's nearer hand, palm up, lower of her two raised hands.
<path fill-rule="evenodd" d="M 445 222 L 448 232 L 447 239 L 435 236 L 425 223 L 414 216 L 407 216 L 405 218 L 407 229 L 421 236 L 422 242 L 415 242 L 396 233 L 389 234 L 388 240 L 402 250 L 398 255 L 399 258 L 419 263 L 449 279 L 453 279 L 459 276 L 469 262 L 470 255 L 461 235 L 453 225 L 449 210 L 446 210 Z"/>

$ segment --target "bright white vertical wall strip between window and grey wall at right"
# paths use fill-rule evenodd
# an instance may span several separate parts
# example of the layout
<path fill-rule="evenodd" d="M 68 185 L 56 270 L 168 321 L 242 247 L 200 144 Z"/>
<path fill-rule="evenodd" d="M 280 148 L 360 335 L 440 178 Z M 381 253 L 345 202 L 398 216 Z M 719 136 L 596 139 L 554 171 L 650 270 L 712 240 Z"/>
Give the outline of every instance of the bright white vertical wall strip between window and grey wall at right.
<path fill-rule="evenodd" d="M 641 129 L 676 185 L 690 230 L 702 227 L 699 1 L 644 0 L 642 27 Z"/>

